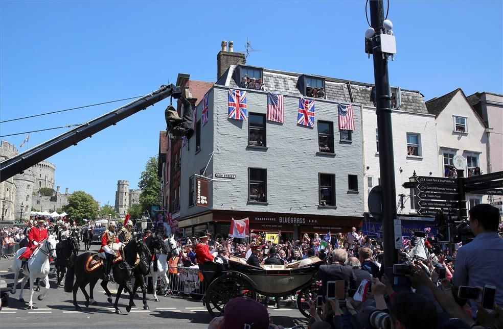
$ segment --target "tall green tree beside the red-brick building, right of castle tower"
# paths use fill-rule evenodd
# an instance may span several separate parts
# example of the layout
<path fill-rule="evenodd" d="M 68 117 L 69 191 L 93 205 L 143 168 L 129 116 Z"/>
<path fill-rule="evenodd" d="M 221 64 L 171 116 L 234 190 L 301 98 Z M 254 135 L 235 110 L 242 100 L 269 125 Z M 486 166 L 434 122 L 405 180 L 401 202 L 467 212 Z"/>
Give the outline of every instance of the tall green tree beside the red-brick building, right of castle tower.
<path fill-rule="evenodd" d="M 161 181 L 157 176 L 157 157 L 148 159 L 145 170 L 140 176 L 138 187 L 142 190 L 140 194 L 140 205 L 142 212 L 150 213 L 150 206 L 158 206 L 158 195 L 161 193 Z"/>

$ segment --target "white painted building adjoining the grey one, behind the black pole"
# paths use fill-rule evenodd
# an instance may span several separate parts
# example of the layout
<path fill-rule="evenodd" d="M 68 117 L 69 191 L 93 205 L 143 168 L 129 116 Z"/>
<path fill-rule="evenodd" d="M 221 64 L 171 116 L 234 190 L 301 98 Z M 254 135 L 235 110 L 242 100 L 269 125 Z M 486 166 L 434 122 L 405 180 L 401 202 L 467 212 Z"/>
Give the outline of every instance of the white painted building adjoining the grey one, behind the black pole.
<path fill-rule="evenodd" d="M 370 95 L 371 87 L 354 86 L 354 94 Z M 392 88 L 392 93 L 398 88 Z M 438 176 L 437 130 L 435 115 L 429 114 L 419 91 L 400 90 L 401 103 L 393 104 L 393 150 L 395 159 L 395 189 L 398 214 L 416 214 L 418 199 L 415 191 L 402 187 L 416 173 L 418 176 Z M 364 195 L 365 212 L 371 189 L 380 185 L 379 144 L 376 108 L 370 97 L 361 97 L 363 107 Z M 399 107 L 399 108 L 398 108 Z"/>

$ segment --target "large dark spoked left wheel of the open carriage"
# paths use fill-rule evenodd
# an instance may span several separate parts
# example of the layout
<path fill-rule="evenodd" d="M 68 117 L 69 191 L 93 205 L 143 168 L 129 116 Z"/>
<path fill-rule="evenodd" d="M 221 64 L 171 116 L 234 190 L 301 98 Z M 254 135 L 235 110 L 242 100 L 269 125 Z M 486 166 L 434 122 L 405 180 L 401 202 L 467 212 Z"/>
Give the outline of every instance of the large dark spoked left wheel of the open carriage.
<path fill-rule="evenodd" d="M 255 289 L 239 273 L 225 273 L 215 279 L 206 291 L 204 302 L 211 316 L 220 316 L 227 301 L 235 297 L 257 298 Z"/>

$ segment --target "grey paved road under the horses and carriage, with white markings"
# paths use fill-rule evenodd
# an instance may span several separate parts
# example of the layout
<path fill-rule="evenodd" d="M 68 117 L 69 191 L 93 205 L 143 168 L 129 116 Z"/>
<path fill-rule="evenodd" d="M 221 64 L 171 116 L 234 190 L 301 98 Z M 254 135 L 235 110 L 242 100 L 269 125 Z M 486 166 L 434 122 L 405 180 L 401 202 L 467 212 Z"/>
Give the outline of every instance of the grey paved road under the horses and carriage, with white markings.
<path fill-rule="evenodd" d="M 92 249 L 98 249 L 93 245 Z M 0 261 L 0 277 L 5 280 L 9 287 L 12 286 L 14 274 L 10 270 L 12 259 Z M 101 327 L 137 328 L 139 326 L 162 325 L 167 328 L 207 328 L 211 321 L 206 308 L 202 302 L 187 297 L 159 296 L 159 302 L 152 299 L 152 295 L 147 295 L 150 311 L 143 308 L 133 308 L 131 312 L 126 313 L 125 307 L 127 300 L 122 298 L 119 301 L 119 308 L 122 315 L 114 313 L 112 305 L 106 301 L 106 295 L 101 286 L 95 287 L 95 299 L 98 306 L 84 307 L 84 296 L 79 290 L 77 299 L 82 307 L 82 312 L 77 312 L 73 308 L 72 294 L 65 293 L 63 287 L 57 287 L 55 281 L 56 275 L 50 273 L 51 289 L 44 300 L 37 299 L 38 292 L 33 294 L 34 310 L 27 310 L 28 302 L 19 302 L 19 286 L 15 295 L 10 295 L 9 308 L 3 308 L 0 311 L 0 327 L 2 328 L 88 328 L 99 325 Z M 115 291 L 113 285 L 109 284 L 113 298 L 115 300 Z M 88 287 L 87 287 L 88 288 Z M 41 288 L 44 289 L 44 288 Z M 23 296 L 29 300 L 29 290 L 25 289 Z M 125 297 L 126 295 L 123 294 Z M 135 298 L 137 306 L 142 307 L 142 301 Z M 306 325 L 307 319 L 302 314 L 292 308 L 269 307 L 273 323 L 281 324 L 285 327 L 291 327 L 297 324 Z"/>

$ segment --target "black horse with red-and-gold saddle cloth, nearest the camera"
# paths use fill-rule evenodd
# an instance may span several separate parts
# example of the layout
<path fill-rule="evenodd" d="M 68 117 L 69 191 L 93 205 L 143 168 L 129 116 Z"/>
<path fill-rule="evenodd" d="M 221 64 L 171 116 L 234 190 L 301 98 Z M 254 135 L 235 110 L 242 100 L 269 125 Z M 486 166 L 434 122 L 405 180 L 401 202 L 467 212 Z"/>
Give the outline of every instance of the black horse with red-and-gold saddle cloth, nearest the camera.
<path fill-rule="evenodd" d="M 141 259 L 149 259 L 152 256 L 150 255 L 150 251 L 148 250 L 147 246 L 145 245 L 145 242 L 143 241 L 142 238 L 137 237 L 132 239 L 124 248 L 124 254 L 127 255 L 136 255 L 139 254 Z M 98 269 L 91 273 L 87 273 L 85 271 L 85 263 L 88 259 L 89 256 L 92 256 L 93 254 L 90 252 L 84 252 L 84 254 L 81 254 L 77 256 L 75 259 L 74 266 L 71 266 L 68 268 L 68 273 L 66 274 L 65 282 L 64 282 L 64 291 L 65 292 L 71 292 L 73 291 L 73 301 L 74 301 L 74 306 L 77 311 L 80 311 L 81 308 L 77 305 L 77 291 L 79 288 L 82 290 L 82 293 L 85 296 L 85 306 L 89 306 L 89 295 L 85 291 L 85 286 L 89 284 L 89 289 L 91 291 L 91 298 L 92 298 L 92 291 L 94 289 L 94 286 L 98 282 L 98 280 L 104 280 L 104 273 L 103 273 L 103 266 L 100 266 Z M 126 306 L 126 311 L 129 312 L 131 310 L 131 306 L 133 305 L 133 291 L 131 284 L 129 282 L 131 278 L 133 268 L 129 266 L 124 260 L 121 262 L 118 262 L 116 264 L 112 265 L 112 271 L 113 271 L 113 277 L 115 278 L 115 281 L 117 284 L 119 284 L 119 289 L 117 291 L 117 298 L 116 302 L 113 305 L 113 307 L 116 309 L 117 314 L 122 314 L 119 308 L 117 307 L 117 304 L 119 302 L 119 297 L 121 296 L 122 290 L 126 290 L 126 292 L 129 293 L 129 305 Z M 74 278 L 74 273 L 75 273 L 75 278 Z M 75 281 L 75 283 L 74 283 Z M 111 298 L 111 293 L 106 287 L 106 281 L 101 282 L 101 286 L 105 290 L 108 298 L 108 302 L 112 302 Z M 72 288 L 73 287 L 73 288 Z M 96 302 L 93 300 L 93 304 Z"/>

